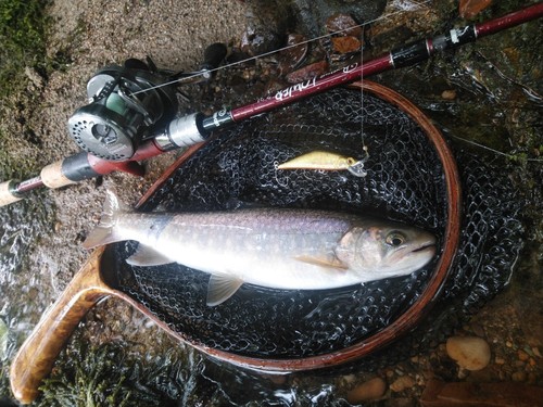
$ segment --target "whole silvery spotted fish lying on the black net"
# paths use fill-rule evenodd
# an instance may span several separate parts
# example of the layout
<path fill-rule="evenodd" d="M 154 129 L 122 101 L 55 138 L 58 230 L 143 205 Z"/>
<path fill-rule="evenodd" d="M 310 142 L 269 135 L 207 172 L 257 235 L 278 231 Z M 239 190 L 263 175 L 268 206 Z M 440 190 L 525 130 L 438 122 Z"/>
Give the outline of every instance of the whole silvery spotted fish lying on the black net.
<path fill-rule="evenodd" d="M 243 283 L 329 290 L 404 276 L 435 254 L 424 229 L 356 214 L 301 208 L 139 213 L 109 191 L 99 225 L 83 245 L 134 240 L 132 266 L 178 263 L 211 275 L 206 304 Z"/>

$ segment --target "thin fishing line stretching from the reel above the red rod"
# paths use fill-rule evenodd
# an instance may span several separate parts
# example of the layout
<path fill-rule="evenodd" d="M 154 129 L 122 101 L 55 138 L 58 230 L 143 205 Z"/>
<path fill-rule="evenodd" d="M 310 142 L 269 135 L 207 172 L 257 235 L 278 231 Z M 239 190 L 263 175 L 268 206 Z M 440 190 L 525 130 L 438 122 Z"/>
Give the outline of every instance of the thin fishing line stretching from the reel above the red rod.
<path fill-rule="evenodd" d="M 420 3 L 416 3 L 416 2 L 414 2 L 414 3 L 417 4 L 417 7 L 422 8 L 425 4 L 427 4 L 429 2 L 431 2 L 431 0 L 425 0 L 425 1 L 420 2 Z M 241 65 L 241 64 L 244 64 L 244 63 L 248 63 L 248 62 L 256 61 L 258 59 L 263 59 L 263 58 L 273 55 L 273 54 L 281 52 L 281 51 L 287 51 L 287 50 L 290 50 L 290 49 L 295 48 L 295 47 L 304 46 L 306 43 L 311 43 L 311 42 L 318 41 L 318 40 L 321 40 L 321 39 L 325 39 L 325 38 L 329 38 L 329 37 L 332 37 L 334 35 L 349 31 L 349 30 L 351 30 L 353 28 L 364 28 L 366 25 L 369 25 L 369 24 L 372 24 L 372 23 L 377 23 L 377 22 L 380 22 L 380 21 L 383 21 L 383 20 L 392 18 L 394 15 L 397 15 L 397 14 L 401 14 L 401 13 L 406 13 L 406 12 L 413 12 L 413 10 L 397 10 L 397 11 L 391 12 L 391 13 L 389 13 L 387 15 L 381 15 L 381 16 L 379 16 L 377 18 L 370 20 L 370 21 L 362 23 L 362 24 L 357 24 L 357 25 L 354 25 L 354 26 L 350 26 L 348 28 L 339 29 L 337 31 L 325 34 L 325 35 L 319 36 L 319 37 L 314 37 L 314 38 L 307 39 L 305 41 L 301 41 L 301 42 L 298 42 L 298 43 L 294 43 L 294 44 L 291 44 L 291 46 L 286 46 L 286 47 L 279 48 L 277 50 L 264 52 L 264 53 L 262 53 L 260 55 L 250 56 L 250 58 L 247 58 L 247 59 L 243 59 L 243 60 L 240 60 L 240 61 L 236 61 L 236 62 L 229 63 L 227 65 L 223 65 L 223 66 L 218 66 L 218 67 L 215 67 L 215 68 L 212 68 L 212 69 L 207 69 L 207 72 L 209 73 L 215 73 L 215 72 L 218 72 L 218 71 L 222 71 L 222 69 L 228 69 L 228 68 L 231 68 L 233 66 L 238 66 L 238 65 Z M 146 89 L 138 90 L 136 92 L 132 92 L 131 94 L 138 94 L 138 93 L 147 92 L 147 91 L 150 91 L 150 90 L 153 90 L 153 89 L 163 88 L 163 87 L 175 85 L 175 84 L 179 84 L 179 82 L 182 82 L 182 81 L 188 81 L 188 80 L 193 79 L 195 77 L 199 77 L 201 75 L 202 75 L 201 73 L 194 73 L 193 75 L 189 75 L 189 76 L 186 76 L 186 77 L 182 77 L 182 78 L 178 78 L 178 79 L 175 79 L 175 80 L 166 81 L 166 82 L 161 84 L 161 85 L 156 85 L 156 86 L 153 86 L 153 87 L 149 87 L 149 88 L 146 88 Z"/>

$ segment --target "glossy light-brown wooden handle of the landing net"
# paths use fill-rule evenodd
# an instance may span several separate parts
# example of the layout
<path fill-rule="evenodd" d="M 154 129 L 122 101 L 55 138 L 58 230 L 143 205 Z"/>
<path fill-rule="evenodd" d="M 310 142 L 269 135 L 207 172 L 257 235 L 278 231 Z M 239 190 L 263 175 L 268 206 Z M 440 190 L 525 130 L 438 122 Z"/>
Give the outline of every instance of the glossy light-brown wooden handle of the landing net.
<path fill-rule="evenodd" d="M 41 381 L 81 318 L 110 289 L 99 274 L 103 249 L 97 250 L 68 287 L 41 317 L 11 365 L 11 389 L 23 404 L 31 403 Z"/>

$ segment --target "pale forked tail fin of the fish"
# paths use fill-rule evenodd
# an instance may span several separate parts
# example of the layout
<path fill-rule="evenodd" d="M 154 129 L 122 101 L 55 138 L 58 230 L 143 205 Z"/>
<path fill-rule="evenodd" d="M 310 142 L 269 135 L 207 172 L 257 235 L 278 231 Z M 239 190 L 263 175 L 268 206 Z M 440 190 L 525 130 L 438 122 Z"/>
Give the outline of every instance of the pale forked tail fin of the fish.
<path fill-rule="evenodd" d="M 118 215 L 125 212 L 129 212 L 129 208 L 118 200 L 113 191 L 108 190 L 100 222 L 89 233 L 85 242 L 83 242 L 83 246 L 85 249 L 92 249 L 124 240 L 116 231 L 115 225 Z"/>

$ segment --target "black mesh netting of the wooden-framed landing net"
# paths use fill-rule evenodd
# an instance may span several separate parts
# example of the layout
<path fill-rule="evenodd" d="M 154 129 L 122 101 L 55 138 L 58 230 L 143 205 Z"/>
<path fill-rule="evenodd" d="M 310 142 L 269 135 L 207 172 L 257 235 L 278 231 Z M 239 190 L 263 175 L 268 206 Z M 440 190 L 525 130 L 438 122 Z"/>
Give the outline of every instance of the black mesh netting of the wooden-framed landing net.
<path fill-rule="evenodd" d="M 363 130 L 363 132 L 362 132 Z M 361 133 L 364 139 L 361 139 Z M 366 177 L 349 171 L 280 170 L 314 150 L 369 157 Z M 432 314 L 394 346 L 429 345 L 493 297 L 509 280 L 520 249 L 518 204 L 479 160 L 458 156 L 464 216 L 457 255 Z M 417 123 L 383 100 L 332 90 L 222 132 L 157 188 L 141 211 L 200 212 L 273 206 L 344 211 L 411 224 L 443 247 L 447 222 L 444 169 Z M 280 219 L 278 219 L 280 221 Z M 281 291 L 243 284 L 219 306 L 205 304 L 209 275 L 181 265 L 132 267 L 135 242 L 110 246 L 118 289 L 193 344 L 258 358 L 329 354 L 396 320 L 420 296 L 439 256 L 425 268 L 329 291 Z M 393 356 L 367 359 L 390 363 Z M 376 359 L 380 357 L 380 359 Z"/>

